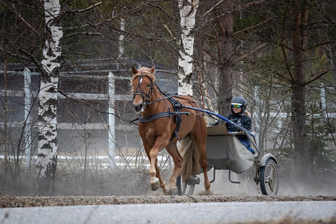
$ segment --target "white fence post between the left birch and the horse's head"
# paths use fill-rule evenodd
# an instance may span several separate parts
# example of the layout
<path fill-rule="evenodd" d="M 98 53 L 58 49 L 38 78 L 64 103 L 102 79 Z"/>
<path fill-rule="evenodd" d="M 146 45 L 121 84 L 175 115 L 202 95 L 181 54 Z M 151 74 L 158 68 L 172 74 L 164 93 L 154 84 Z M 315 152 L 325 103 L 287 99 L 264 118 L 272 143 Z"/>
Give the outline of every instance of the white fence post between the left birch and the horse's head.
<path fill-rule="evenodd" d="M 115 110 L 115 101 L 116 101 L 116 95 L 115 95 L 115 76 L 110 71 L 109 72 L 109 156 L 110 156 L 110 167 L 114 167 L 114 155 L 115 155 L 115 149 L 116 149 L 116 118 L 114 116 Z"/>

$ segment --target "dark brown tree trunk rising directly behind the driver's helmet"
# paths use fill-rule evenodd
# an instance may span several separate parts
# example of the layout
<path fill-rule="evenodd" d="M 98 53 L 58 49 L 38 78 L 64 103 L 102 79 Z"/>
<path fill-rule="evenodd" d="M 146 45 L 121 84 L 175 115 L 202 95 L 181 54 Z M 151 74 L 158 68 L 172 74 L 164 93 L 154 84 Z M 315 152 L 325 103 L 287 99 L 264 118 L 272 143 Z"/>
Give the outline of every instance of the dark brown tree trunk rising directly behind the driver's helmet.
<path fill-rule="evenodd" d="M 233 3 L 231 0 L 223 3 L 222 13 L 232 10 Z M 232 99 L 232 63 L 230 56 L 233 52 L 232 32 L 233 32 L 233 15 L 228 13 L 224 16 L 223 21 L 219 22 L 221 32 L 219 32 L 220 45 L 220 78 L 218 87 L 218 113 L 222 116 L 228 116 L 231 113 L 230 104 Z"/>

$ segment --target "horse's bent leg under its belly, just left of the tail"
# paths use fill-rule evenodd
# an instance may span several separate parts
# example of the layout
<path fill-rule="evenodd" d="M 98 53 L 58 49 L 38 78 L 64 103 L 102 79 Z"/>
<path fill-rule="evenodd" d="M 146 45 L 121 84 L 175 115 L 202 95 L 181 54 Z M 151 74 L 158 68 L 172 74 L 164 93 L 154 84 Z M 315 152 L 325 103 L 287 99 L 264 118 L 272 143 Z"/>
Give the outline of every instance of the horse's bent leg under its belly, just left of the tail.
<path fill-rule="evenodd" d="M 176 147 L 176 143 L 172 143 L 169 144 L 168 146 L 166 146 L 167 152 L 172 155 L 173 161 L 174 161 L 174 170 L 172 173 L 172 176 L 170 176 L 169 179 L 169 190 L 170 192 L 167 193 L 171 193 L 174 194 L 175 192 L 177 192 L 177 187 L 176 187 L 176 179 L 177 176 L 179 175 L 180 169 L 182 167 L 182 162 L 183 162 L 183 158 L 181 157 L 177 147 Z"/>

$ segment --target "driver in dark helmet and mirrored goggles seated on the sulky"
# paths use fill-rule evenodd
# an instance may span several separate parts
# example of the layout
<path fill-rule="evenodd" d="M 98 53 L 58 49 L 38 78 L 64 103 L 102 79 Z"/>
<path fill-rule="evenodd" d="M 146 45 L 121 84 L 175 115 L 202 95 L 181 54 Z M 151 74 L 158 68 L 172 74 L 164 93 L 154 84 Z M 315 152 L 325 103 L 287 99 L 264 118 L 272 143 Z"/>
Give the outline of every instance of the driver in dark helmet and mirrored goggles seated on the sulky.
<path fill-rule="evenodd" d="M 246 114 L 246 100 L 243 97 L 235 97 L 231 101 L 231 114 L 228 116 L 228 120 L 232 121 L 233 123 L 236 123 L 237 125 L 244 127 L 244 129 L 248 130 L 248 132 L 251 131 L 251 118 Z M 226 123 L 226 127 L 228 128 L 228 132 L 240 132 L 240 130 L 231 125 L 230 123 Z M 251 143 L 248 140 L 248 137 L 246 134 L 237 134 L 237 139 L 243 144 L 248 151 L 251 151 L 251 153 L 254 154 L 253 149 L 250 147 Z"/>

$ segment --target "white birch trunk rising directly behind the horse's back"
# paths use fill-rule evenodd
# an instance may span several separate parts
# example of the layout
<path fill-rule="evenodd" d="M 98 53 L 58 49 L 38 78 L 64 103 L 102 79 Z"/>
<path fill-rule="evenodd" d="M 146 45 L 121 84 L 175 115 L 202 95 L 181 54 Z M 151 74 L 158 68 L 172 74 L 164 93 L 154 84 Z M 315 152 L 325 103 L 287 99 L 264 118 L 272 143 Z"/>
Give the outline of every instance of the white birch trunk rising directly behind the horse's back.
<path fill-rule="evenodd" d="M 195 15 L 199 0 L 179 0 L 181 18 L 181 48 L 179 56 L 179 94 L 193 95 L 193 51 Z"/>

